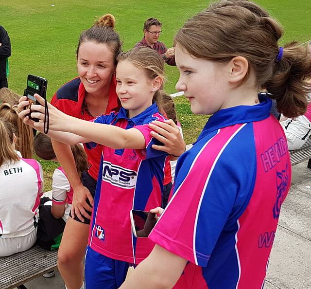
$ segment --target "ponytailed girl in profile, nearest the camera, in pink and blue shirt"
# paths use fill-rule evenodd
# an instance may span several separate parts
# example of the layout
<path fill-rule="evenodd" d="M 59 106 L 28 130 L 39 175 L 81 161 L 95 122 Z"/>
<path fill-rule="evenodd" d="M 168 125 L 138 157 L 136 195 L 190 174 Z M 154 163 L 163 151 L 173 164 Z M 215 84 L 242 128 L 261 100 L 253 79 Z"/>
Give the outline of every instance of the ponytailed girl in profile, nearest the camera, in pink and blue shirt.
<path fill-rule="evenodd" d="M 258 91 L 295 117 L 311 90 L 307 48 L 279 47 L 282 34 L 245 0 L 213 3 L 177 32 L 176 88 L 193 113 L 213 115 L 177 162 L 173 197 L 149 235 L 155 248 L 121 289 L 263 288 L 291 162 Z"/>

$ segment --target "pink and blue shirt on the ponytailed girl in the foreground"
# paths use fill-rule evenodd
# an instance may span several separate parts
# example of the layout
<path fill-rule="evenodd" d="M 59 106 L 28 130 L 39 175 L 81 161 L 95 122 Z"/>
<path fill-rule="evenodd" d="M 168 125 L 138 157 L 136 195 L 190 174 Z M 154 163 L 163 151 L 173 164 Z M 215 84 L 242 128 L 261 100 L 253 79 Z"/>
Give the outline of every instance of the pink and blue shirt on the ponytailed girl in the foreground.
<path fill-rule="evenodd" d="M 187 260 L 174 289 L 263 288 L 291 162 L 271 100 L 211 116 L 149 238 Z"/>

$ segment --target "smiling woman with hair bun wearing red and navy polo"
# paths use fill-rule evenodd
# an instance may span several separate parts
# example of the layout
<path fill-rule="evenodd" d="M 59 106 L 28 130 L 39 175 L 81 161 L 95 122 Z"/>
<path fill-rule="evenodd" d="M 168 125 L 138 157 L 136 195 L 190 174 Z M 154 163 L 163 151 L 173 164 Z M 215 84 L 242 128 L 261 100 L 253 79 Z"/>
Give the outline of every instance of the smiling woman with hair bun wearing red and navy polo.
<path fill-rule="evenodd" d="M 106 14 L 81 33 L 76 50 L 78 77 L 55 92 L 51 103 L 56 108 L 84 120 L 119 110 L 115 69 L 122 43 L 114 27 L 114 16 Z M 82 260 L 102 150 L 90 151 L 85 147 L 90 166 L 80 178 L 70 146 L 55 140 L 52 145 L 74 191 L 72 215 L 69 215 L 58 252 L 58 269 L 66 288 L 79 289 L 83 288 Z"/>

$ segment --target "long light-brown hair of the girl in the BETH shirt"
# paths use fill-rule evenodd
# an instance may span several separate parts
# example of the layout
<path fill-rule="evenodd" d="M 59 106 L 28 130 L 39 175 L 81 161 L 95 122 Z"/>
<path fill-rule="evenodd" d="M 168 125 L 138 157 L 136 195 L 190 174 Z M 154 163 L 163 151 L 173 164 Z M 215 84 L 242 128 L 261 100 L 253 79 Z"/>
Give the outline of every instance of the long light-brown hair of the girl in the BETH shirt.
<path fill-rule="evenodd" d="M 0 118 L 0 165 L 4 162 L 16 162 L 19 160 L 14 148 L 14 126 Z"/>

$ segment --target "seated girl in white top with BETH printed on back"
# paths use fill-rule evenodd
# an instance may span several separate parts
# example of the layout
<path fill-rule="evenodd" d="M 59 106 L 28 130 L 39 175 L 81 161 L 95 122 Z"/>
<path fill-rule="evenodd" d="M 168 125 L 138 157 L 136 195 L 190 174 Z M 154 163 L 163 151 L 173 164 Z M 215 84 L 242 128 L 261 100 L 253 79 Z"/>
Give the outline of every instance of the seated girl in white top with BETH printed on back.
<path fill-rule="evenodd" d="M 43 194 L 41 165 L 15 150 L 14 126 L 0 119 L 0 256 L 35 244 L 38 206 Z M 5 205 L 3 205 L 5 204 Z"/>

